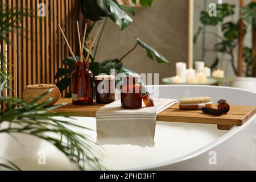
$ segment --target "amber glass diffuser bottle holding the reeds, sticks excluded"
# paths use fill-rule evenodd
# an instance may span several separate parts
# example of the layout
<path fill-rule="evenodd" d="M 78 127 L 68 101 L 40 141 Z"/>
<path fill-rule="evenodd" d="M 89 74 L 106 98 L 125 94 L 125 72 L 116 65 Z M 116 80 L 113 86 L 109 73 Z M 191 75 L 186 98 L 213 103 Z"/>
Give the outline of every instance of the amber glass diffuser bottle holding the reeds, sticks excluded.
<path fill-rule="evenodd" d="M 93 73 L 89 63 L 76 62 L 71 75 L 73 105 L 93 104 Z"/>

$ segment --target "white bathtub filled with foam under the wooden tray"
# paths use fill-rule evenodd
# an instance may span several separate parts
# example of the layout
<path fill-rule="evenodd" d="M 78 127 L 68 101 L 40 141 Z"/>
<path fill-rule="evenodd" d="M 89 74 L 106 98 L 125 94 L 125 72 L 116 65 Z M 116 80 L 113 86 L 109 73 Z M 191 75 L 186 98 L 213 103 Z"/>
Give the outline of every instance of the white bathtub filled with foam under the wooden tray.
<path fill-rule="evenodd" d="M 256 106 L 256 94 L 220 86 L 160 85 L 160 98 L 211 96 L 214 102 L 225 99 L 233 105 Z M 95 118 L 75 117 L 76 123 L 96 129 Z M 96 140 L 96 132 L 88 134 Z M 0 134 L 0 156 L 23 170 L 76 170 L 60 151 L 46 141 L 16 134 Z M 155 146 L 105 145 L 100 157 L 109 170 L 256 170 L 256 115 L 243 126 L 230 131 L 216 125 L 157 122 Z M 46 163 L 39 164 L 41 155 Z"/>

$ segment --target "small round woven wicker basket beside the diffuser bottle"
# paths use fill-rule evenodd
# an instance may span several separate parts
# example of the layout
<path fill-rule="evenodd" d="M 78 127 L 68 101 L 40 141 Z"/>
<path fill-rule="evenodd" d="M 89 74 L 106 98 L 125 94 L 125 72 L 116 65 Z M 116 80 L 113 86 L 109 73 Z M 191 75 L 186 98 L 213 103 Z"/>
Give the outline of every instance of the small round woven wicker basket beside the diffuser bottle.
<path fill-rule="evenodd" d="M 50 102 L 48 105 L 46 105 L 46 106 L 52 106 L 60 98 L 60 90 L 59 88 L 57 88 L 55 84 L 27 85 L 23 91 L 23 99 L 30 102 L 52 88 L 53 90 L 51 93 L 47 94 L 47 96 L 41 98 L 38 101 L 38 104 L 40 104 L 48 100 L 49 98 L 53 98 L 53 101 Z"/>

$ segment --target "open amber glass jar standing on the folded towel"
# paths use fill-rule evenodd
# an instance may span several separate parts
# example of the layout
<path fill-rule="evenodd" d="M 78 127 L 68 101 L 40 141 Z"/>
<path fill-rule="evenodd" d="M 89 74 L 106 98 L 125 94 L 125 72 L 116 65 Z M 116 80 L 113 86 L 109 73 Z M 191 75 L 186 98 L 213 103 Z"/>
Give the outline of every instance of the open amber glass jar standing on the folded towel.
<path fill-rule="evenodd" d="M 127 76 L 123 78 L 121 107 L 123 109 L 142 108 L 142 87 L 139 83 L 139 77 Z"/>

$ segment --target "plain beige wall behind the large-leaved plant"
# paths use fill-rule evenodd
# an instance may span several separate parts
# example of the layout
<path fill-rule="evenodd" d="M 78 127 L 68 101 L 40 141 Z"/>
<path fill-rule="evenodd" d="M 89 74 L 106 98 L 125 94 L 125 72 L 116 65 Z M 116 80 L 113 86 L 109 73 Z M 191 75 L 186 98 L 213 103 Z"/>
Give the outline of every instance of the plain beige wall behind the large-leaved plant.
<path fill-rule="evenodd" d="M 152 7 L 137 7 L 133 19 L 131 26 L 123 31 L 108 21 L 97 61 L 121 58 L 135 45 L 136 36 L 162 53 L 171 64 L 149 60 L 143 49 L 138 47 L 123 60 L 125 67 L 138 73 L 159 73 L 160 83 L 164 77 L 175 76 L 175 63 L 187 61 L 188 1 L 155 0 Z"/>

